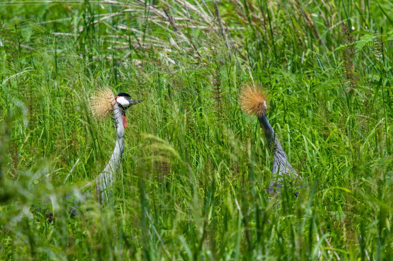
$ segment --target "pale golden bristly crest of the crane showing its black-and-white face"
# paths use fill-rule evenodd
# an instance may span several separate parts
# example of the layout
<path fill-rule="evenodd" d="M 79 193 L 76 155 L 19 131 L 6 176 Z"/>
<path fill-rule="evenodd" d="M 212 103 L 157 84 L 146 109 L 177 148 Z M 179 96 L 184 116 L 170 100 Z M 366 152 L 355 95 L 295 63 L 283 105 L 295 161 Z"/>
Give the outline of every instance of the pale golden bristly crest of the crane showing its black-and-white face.
<path fill-rule="evenodd" d="M 90 97 L 91 111 L 94 117 L 98 120 L 103 120 L 110 116 L 115 102 L 116 100 L 114 99 L 111 88 L 104 87 L 97 89 Z"/>

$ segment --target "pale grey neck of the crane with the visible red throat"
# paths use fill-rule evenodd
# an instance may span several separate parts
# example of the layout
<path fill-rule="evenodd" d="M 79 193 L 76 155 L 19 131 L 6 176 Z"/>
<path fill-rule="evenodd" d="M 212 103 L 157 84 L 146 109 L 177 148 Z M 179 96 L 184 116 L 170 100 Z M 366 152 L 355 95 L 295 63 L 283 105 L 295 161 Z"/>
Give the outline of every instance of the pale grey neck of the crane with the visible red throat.
<path fill-rule="evenodd" d="M 124 125 L 121 117 L 121 111 L 117 103 L 113 106 L 113 121 L 116 124 L 116 145 L 114 147 L 112 157 L 104 170 L 95 178 L 96 193 L 100 195 L 101 201 L 104 201 L 105 191 L 112 185 L 113 175 L 120 168 L 121 155 L 124 151 Z"/>

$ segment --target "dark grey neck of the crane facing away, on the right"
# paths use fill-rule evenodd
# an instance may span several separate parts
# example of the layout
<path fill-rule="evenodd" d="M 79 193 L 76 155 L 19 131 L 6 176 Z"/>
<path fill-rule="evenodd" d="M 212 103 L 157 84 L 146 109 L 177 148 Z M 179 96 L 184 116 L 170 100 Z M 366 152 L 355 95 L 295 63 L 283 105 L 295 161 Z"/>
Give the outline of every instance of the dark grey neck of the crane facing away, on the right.
<path fill-rule="evenodd" d="M 301 177 L 296 173 L 291 164 L 288 161 L 288 158 L 281 147 L 281 143 L 279 139 L 276 137 L 276 134 L 270 125 L 268 119 L 266 118 L 266 114 L 258 117 L 258 121 L 260 126 L 265 134 L 266 141 L 269 147 L 273 147 L 273 167 L 272 167 L 272 180 L 269 183 L 268 193 L 274 194 L 276 188 L 280 191 L 284 178 L 293 178 L 301 181 Z M 272 144 L 273 143 L 273 144 Z M 297 196 L 299 192 L 296 192 Z"/>

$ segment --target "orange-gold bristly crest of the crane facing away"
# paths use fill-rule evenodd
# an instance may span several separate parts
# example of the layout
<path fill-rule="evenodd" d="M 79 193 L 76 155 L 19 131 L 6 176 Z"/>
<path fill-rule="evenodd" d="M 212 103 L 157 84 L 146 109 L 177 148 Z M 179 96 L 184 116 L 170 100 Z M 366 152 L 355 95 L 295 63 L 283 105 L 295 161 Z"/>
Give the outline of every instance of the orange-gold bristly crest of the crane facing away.
<path fill-rule="evenodd" d="M 266 93 L 262 86 L 253 82 L 246 83 L 239 95 L 239 104 L 242 111 L 248 115 L 256 115 L 258 117 L 266 113 Z"/>

